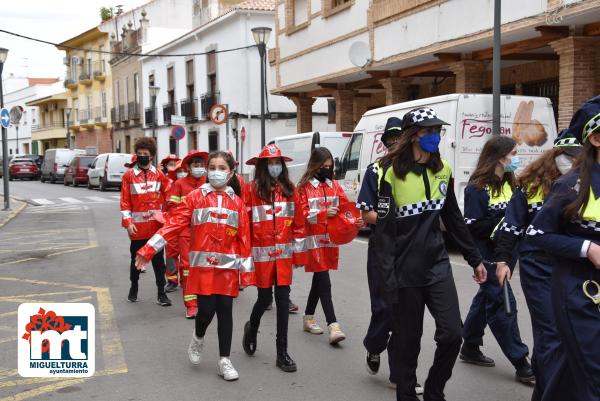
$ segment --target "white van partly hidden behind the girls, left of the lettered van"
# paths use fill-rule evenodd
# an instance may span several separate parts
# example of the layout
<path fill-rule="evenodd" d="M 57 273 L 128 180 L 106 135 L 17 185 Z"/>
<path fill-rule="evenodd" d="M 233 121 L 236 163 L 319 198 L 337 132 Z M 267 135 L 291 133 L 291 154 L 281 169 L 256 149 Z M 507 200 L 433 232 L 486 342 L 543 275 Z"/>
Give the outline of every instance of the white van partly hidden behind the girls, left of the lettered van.
<path fill-rule="evenodd" d="M 334 158 L 341 158 L 344 149 L 352 138 L 351 132 L 306 132 L 302 134 L 280 136 L 273 139 L 274 143 L 281 149 L 281 154 L 291 157 L 293 160 L 286 163 L 290 180 L 297 183 L 306 170 L 310 154 L 316 147 L 329 149 Z"/>

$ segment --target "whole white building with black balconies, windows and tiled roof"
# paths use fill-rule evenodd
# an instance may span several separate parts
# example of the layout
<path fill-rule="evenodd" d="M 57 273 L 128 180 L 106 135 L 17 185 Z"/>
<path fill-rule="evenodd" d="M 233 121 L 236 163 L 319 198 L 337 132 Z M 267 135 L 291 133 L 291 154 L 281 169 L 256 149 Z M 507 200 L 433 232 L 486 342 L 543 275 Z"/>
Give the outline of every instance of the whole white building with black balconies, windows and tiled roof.
<path fill-rule="evenodd" d="M 184 156 L 191 149 L 230 149 L 241 161 L 243 172 L 243 162 L 257 154 L 261 146 L 260 56 L 253 46 L 251 28 L 274 29 L 275 4 L 265 0 L 238 1 L 233 5 L 231 1 L 209 3 L 225 11 L 152 51 L 185 56 L 141 60 L 146 135 L 157 138 L 159 160 L 168 153 Z M 197 3 L 194 12 L 213 15 L 201 11 Z M 196 16 L 195 21 L 201 19 Z M 220 52 L 228 49 L 239 50 Z M 151 98 L 149 87 L 159 88 L 156 99 Z M 269 94 L 266 103 L 267 142 L 297 132 L 293 102 Z M 215 104 L 227 105 L 228 122 L 219 125 L 210 120 L 209 111 Z M 326 111 L 326 100 L 315 106 L 311 116 L 315 129 L 333 130 L 327 123 Z M 185 121 L 187 135 L 179 141 L 171 136 L 172 116 Z"/>

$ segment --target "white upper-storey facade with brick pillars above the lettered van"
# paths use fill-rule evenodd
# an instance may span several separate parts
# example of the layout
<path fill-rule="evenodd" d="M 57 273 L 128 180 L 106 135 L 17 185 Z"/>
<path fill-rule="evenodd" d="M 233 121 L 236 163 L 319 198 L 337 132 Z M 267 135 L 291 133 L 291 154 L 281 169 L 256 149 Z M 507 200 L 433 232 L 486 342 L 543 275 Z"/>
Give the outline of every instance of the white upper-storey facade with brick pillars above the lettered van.
<path fill-rule="evenodd" d="M 338 130 L 367 110 L 448 93 L 491 92 L 493 1 L 281 0 L 273 93 L 300 130 L 328 98 Z M 600 92 L 600 2 L 502 1 L 502 92 L 553 100 L 558 126 Z"/>

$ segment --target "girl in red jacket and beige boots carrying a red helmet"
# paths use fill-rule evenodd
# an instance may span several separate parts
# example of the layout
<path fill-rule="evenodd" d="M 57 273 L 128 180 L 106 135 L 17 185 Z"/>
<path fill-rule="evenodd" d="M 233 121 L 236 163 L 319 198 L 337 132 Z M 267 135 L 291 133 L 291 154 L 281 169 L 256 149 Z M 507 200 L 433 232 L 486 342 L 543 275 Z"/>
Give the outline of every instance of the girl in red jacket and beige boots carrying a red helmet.
<path fill-rule="evenodd" d="M 303 327 L 304 331 L 312 334 L 323 333 L 314 317 L 320 300 L 327 319 L 329 343 L 334 345 L 345 340 L 346 335 L 337 322 L 331 299 L 329 270 L 338 268 L 339 248 L 329 239 L 327 222 L 339 212 L 340 205 L 348 202 L 348 198 L 342 187 L 333 180 L 333 156 L 327 148 L 313 150 L 306 172 L 298 183 L 298 191 L 306 219 L 305 271 L 313 273 Z M 362 224 L 362 219 L 358 224 Z"/>

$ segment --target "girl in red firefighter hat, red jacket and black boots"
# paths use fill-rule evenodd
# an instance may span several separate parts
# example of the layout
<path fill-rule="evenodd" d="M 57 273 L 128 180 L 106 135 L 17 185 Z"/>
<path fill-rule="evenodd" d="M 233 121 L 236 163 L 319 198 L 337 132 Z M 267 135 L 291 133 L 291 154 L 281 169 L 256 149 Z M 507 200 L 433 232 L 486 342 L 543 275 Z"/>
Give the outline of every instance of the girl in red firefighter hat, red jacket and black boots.
<path fill-rule="evenodd" d="M 277 305 L 277 360 L 284 372 L 295 372 L 296 363 L 287 353 L 289 295 L 292 264 L 304 265 L 304 216 L 298 205 L 294 184 L 289 179 L 285 162 L 276 145 L 267 145 L 246 162 L 256 166 L 254 181 L 246 187 L 246 207 L 252 232 L 252 261 L 258 299 L 250 320 L 244 325 L 242 345 L 248 355 L 256 351 L 256 335 L 260 319 L 273 302 Z"/>

